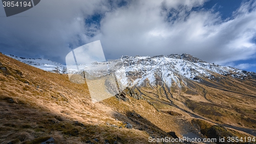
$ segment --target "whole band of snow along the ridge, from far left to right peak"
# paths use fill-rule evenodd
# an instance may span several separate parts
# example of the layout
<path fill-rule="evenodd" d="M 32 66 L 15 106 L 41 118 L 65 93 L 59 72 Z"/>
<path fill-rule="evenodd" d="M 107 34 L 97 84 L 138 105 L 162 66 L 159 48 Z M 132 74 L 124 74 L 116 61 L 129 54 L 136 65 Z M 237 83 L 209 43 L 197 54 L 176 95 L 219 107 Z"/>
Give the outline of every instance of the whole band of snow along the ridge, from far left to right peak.
<path fill-rule="evenodd" d="M 48 59 L 24 58 L 14 55 L 7 56 L 46 71 L 57 73 L 69 72 L 65 65 Z M 79 65 L 78 67 L 79 70 L 81 68 L 81 70 L 87 71 L 92 76 L 102 76 L 108 73 L 108 71 L 114 72 L 117 79 L 124 86 L 141 85 L 145 80 L 149 81 L 152 85 L 156 85 L 158 81 L 162 81 L 170 86 L 174 82 L 179 83 L 182 79 L 183 81 L 190 79 L 200 82 L 200 77 L 215 81 L 225 76 L 240 79 L 256 78 L 256 74 L 253 72 L 209 64 L 189 54 L 170 54 L 167 56 L 158 55 L 152 57 L 124 55 L 113 61 L 104 63 L 95 61 L 90 65 Z M 72 69 L 70 72 L 77 73 L 77 70 Z"/>

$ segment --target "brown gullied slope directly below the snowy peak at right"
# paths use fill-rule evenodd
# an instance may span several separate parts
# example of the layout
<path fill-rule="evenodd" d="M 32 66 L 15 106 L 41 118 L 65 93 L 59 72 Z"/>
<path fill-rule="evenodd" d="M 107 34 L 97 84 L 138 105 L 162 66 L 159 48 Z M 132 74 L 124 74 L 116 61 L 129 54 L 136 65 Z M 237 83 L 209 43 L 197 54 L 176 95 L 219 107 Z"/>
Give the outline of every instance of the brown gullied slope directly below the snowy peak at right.
<path fill-rule="evenodd" d="M 216 124 L 240 127 L 239 130 L 245 128 L 256 135 L 256 80 L 217 73 L 215 77 L 212 80 L 198 77 L 200 82 L 183 77 L 179 79 L 181 88 L 177 84 L 167 87 L 163 82 L 156 86 L 145 82 L 147 87 L 135 90 L 162 111 L 200 117 Z"/>

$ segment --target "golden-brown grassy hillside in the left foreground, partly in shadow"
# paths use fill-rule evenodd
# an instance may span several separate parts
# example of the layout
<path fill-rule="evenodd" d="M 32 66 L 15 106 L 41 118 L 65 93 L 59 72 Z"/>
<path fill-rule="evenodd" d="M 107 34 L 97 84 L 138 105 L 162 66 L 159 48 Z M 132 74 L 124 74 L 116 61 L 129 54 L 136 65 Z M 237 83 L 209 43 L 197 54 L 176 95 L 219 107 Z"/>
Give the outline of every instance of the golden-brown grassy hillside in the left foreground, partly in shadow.
<path fill-rule="evenodd" d="M 143 131 L 124 127 L 110 107 L 91 102 L 86 85 L 70 83 L 68 75 L 46 72 L 0 54 L 0 143 L 86 143 L 97 138 L 144 143 Z M 75 122 L 78 121 L 78 122 Z"/>

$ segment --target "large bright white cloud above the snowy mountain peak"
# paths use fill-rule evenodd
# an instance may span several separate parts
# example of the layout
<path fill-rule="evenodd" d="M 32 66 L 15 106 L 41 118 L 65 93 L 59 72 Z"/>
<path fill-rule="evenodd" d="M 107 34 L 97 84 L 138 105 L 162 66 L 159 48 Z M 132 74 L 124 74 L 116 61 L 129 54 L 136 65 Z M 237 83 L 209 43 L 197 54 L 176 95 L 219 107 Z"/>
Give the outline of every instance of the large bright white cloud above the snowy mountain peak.
<path fill-rule="evenodd" d="M 189 53 L 225 65 L 256 53 L 256 46 L 251 43 L 256 34 L 256 11 L 245 12 L 248 3 L 234 12 L 233 19 L 224 21 L 219 13 L 190 11 L 203 2 L 189 2 L 136 1 L 106 13 L 101 21 L 100 39 L 107 57 Z M 166 15 L 170 11 L 174 12 L 168 22 Z"/>

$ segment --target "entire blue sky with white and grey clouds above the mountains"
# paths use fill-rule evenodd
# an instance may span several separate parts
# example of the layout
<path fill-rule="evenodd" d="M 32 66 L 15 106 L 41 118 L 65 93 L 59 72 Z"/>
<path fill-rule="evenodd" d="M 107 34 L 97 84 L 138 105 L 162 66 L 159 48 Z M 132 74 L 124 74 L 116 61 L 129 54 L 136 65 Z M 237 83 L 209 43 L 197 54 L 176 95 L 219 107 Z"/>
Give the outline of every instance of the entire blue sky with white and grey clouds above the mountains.
<path fill-rule="evenodd" d="M 256 2 L 44 0 L 10 17 L 0 6 L 2 53 L 65 64 L 95 40 L 106 59 L 188 53 L 256 72 Z"/>

